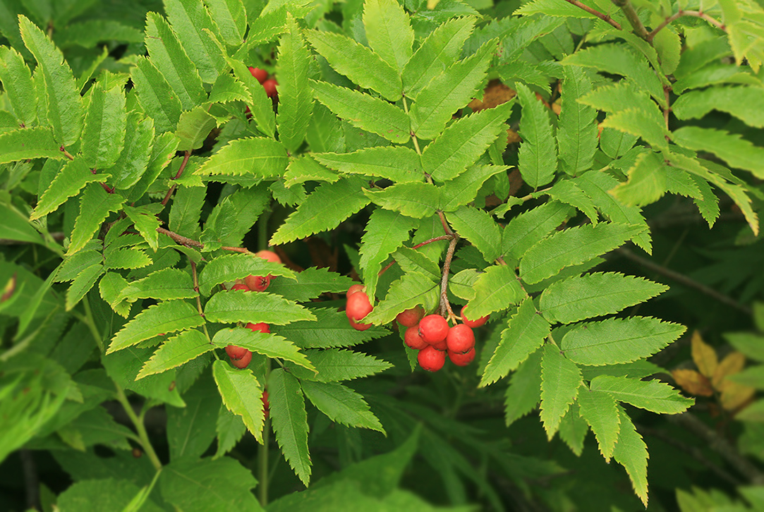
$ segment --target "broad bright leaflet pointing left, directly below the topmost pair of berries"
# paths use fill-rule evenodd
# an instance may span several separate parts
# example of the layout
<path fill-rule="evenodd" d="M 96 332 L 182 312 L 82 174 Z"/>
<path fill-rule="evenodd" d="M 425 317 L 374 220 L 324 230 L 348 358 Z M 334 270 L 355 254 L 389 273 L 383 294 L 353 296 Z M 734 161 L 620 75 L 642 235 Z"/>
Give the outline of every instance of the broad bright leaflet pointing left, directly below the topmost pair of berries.
<path fill-rule="evenodd" d="M 283 174 L 288 163 L 286 150 L 277 141 L 264 137 L 240 138 L 225 144 L 194 174 L 274 178 Z"/>

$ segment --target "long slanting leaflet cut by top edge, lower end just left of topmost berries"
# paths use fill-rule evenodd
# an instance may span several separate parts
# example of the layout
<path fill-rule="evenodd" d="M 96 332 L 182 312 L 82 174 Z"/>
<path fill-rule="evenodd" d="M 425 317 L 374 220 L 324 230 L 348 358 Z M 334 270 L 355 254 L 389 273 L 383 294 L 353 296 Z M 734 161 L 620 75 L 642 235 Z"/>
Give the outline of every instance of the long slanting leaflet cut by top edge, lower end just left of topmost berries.
<path fill-rule="evenodd" d="M 213 30 L 214 23 L 205 5 L 196 0 L 164 0 L 163 3 L 167 18 L 202 81 L 215 82 L 225 67 L 225 60 L 207 32 Z"/>

